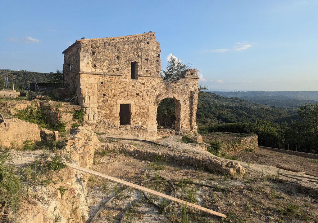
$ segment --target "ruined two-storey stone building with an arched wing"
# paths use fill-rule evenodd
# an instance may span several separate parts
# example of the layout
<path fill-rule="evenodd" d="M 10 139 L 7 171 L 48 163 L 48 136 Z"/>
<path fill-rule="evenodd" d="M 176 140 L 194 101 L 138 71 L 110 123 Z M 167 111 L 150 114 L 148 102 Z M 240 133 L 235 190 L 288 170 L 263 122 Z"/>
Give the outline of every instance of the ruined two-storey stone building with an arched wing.
<path fill-rule="evenodd" d="M 176 103 L 175 129 L 197 133 L 198 70 L 163 81 L 155 33 L 79 39 L 63 51 L 64 82 L 76 89 L 84 122 L 95 132 L 157 136 L 159 102 Z"/>

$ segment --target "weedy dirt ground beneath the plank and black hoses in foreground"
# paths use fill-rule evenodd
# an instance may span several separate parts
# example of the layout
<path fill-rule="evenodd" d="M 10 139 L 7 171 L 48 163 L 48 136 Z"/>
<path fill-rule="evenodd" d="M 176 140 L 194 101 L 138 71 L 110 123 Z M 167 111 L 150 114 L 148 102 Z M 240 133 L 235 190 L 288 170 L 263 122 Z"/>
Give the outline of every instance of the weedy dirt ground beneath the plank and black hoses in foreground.
<path fill-rule="evenodd" d="M 105 140 L 104 140 L 105 141 Z M 107 143 L 110 141 L 108 140 Z M 112 141 L 114 144 L 129 141 Z M 134 143 L 135 142 L 131 142 Z M 138 142 L 138 147 L 152 147 Z M 159 148 L 158 148 L 159 149 Z M 182 211 L 179 204 L 173 204 L 166 211 L 161 211 L 147 202 L 142 194 L 135 190 L 125 193 L 125 187 L 98 177 L 91 177 L 88 183 L 88 202 L 90 216 L 100 209 L 112 196 L 116 198 L 103 206 L 95 223 L 114 222 L 318 222 L 318 202 L 315 193 L 302 190 L 295 184 L 280 181 L 275 175 L 255 173 L 246 169 L 244 176 L 226 176 L 210 173 L 194 167 L 181 166 L 178 163 L 147 161 L 131 157 L 128 154 L 110 152 L 97 153 L 92 169 L 100 173 L 137 183 L 145 179 L 193 180 L 199 184 L 213 185 L 215 189 L 195 186 L 189 183 L 173 183 L 176 197 L 196 203 L 211 210 L 224 213 L 227 219 L 220 219 L 193 208 Z M 317 165 L 317 164 L 315 164 Z M 174 195 L 166 183 L 145 183 L 146 186 L 162 193 Z M 223 189 L 232 192 L 223 191 Z M 148 194 L 149 195 L 149 194 Z M 160 197 L 150 197 L 161 206 L 167 204 Z M 128 212 L 124 215 L 124 212 Z M 188 219 L 188 220 L 187 220 Z"/>

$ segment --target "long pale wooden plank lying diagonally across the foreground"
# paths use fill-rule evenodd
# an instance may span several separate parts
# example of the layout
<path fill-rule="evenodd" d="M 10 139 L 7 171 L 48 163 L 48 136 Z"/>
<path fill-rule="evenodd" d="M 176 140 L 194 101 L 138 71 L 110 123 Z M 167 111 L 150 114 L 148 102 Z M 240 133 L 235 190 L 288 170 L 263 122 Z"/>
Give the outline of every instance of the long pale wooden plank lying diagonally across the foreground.
<path fill-rule="evenodd" d="M 197 209 L 199 209 L 199 210 L 202 210 L 202 211 L 204 211 L 204 212 L 206 212 L 206 213 L 210 213 L 210 214 L 213 214 L 213 215 L 222 217 L 222 218 L 226 218 L 226 215 L 225 215 L 225 214 L 218 213 L 218 212 L 216 212 L 216 211 L 212 211 L 212 210 L 207 209 L 207 208 L 205 208 L 205 207 L 201 207 L 201 206 L 199 206 L 199 205 L 192 204 L 192 203 L 186 202 L 186 201 L 184 201 L 184 200 L 180 200 L 180 199 L 178 199 L 178 198 L 174 198 L 174 197 L 169 196 L 169 195 L 167 195 L 167 194 L 160 193 L 160 192 L 157 192 L 157 191 L 148 189 L 148 188 L 146 188 L 146 187 L 142 187 L 142 186 L 139 186 L 139 185 L 130 183 L 130 182 L 125 181 L 125 180 L 120 180 L 120 179 L 118 179 L 118 178 L 115 178 L 115 177 L 112 177 L 112 176 L 108 176 L 108 175 L 106 175 L 106 174 L 101 174 L 101 173 L 99 173 L 99 172 L 86 169 L 86 168 L 84 168 L 84 167 L 79 167 L 79 166 L 73 165 L 73 164 L 71 164 L 71 163 L 66 163 L 66 165 L 69 166 L 69 167 L 72 167 L 73 169 L 76 169 L 76 170 L 79 170 L 79 171 L 82 171 L 82 172 L 85 172 L 85 173 L 88 173 L 88 174 L 93 174 L 93 175 L 96 175 L 96 176 L 105 178 L 105 179 L 107 179 L 107 180 L 114 181 L 114 182 L 117 182 L 117 183 L 126 185 L 126 186 L 128 186 L 128 187 L 135 188 L 135 189 L 137 189 L 137 190 L 145 191 L 145 192 L 147 192 L 147 193 L 151 193 L 151 194 L 154 194 L 154 195 L 163 197 L 163 198 L 165 198 L 165 199 L 167 199 L 167 200 L 173 200 L 173 201 L 178 202 L 178 203 L 180 203 L 180 204 L 186 204 L 187 206 L 195 207 L 195 208 L 197 208 Z"/>

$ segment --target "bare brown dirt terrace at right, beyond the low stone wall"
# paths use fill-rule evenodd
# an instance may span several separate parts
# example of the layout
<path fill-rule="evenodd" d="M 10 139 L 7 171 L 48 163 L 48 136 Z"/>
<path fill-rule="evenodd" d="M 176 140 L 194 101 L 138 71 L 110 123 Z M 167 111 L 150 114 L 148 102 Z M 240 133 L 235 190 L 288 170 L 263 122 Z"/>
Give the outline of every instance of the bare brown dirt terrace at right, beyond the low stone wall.
<path fill-rule="evenodd" d="M 253 164 L 262 164 L 278 168 L 287 168 L 294 172 L 306 172 L 306 174 L 318 177 L 318 159 L 315 155 L 301 153 L 288 154 L 288 151 L 259 147 L 253 151 L 239 151 L 231 155 Z"/>

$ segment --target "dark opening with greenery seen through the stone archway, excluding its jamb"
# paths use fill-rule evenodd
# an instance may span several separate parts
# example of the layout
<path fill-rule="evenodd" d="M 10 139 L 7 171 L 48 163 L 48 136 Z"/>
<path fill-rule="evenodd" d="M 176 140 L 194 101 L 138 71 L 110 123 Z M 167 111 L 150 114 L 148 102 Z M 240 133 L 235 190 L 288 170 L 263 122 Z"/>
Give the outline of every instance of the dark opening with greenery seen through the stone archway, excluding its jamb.
<path fill-rule="evenodd" d="M 176 103 L 172 98 L 163 99 L 157 108 L 157 126 L 162 128 L 175 128 Z"/>

